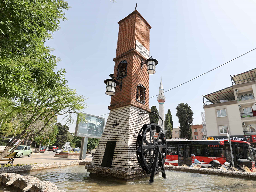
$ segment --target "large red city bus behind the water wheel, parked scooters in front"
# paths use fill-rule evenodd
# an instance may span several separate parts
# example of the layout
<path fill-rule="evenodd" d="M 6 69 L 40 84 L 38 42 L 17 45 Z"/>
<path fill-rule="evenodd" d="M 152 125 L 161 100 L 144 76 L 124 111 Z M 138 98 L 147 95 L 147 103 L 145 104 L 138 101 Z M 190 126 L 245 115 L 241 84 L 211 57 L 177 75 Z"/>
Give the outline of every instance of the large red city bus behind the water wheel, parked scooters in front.
<path fill-rule="evenodd" d="M 254 157 L 251 144 L 246 141 L 231 140 L 234 166 L 237 167 L 238 159 L 252 161 L 252 169 L 255 169 Z M 198 140 L 167 139 L 167 154 L 165 164 L 187 166 L 194 163 L 194 155 L 197 160 L 204 161 L 203 165 L 218 160 L 222 165 L 229 162 L 232 165 L 230 144 L 227 140 Z"/>

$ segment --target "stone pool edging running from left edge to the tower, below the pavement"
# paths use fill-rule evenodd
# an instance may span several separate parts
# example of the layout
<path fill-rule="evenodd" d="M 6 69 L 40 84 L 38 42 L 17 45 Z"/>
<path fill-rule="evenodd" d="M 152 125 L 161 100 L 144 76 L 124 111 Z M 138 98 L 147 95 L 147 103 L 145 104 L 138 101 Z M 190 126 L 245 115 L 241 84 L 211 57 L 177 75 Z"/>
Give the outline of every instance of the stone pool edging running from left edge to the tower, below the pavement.
<path fill-rule="evenodd" d="M 63 167 L 69 165 L 86 165 L 90 164 L 89 160 L 74 160 L 74 161 L 65 161 L 65 162 L 56 162 L 56 163 L 42 163 L 42 164 L 33 164 L 33 165 L 21 165 L 13 167 L 1 167 L 0 173 L 17 173 L 21 171 L 33 171 L 33 170 L 42 170 L 47 168 Z"/>

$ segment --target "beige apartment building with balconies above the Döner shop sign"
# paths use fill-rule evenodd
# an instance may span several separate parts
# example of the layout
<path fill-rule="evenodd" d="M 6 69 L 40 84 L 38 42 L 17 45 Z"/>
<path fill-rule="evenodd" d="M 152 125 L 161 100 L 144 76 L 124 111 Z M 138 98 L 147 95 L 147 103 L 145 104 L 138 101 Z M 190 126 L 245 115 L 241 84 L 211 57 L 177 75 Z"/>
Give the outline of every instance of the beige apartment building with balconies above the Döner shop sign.
<path fill-rule="evenodd" d="M 207 139 L 256 143 L 256 68 L 231 76 L 232 86 L 203 96 Z M 255 147 L 255 146 L 254 146 Z"/>

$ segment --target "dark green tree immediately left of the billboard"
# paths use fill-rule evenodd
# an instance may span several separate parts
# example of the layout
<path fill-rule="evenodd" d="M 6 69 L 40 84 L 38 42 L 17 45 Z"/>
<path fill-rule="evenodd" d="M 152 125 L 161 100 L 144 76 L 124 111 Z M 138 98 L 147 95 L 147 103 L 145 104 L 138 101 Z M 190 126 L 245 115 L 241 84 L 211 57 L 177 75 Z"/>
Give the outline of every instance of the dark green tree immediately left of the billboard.
<path fill-rule="evenodd" d="M 67 125 L 61 125 L 61 123 L 57 123 L 56 125 L 58 127 L 58 134 L 56 135 L 56 142 L 54 145 L 61 148 L 62 145 L 65 144 L 65 142 L 69 141 L 69 127 Z"/>

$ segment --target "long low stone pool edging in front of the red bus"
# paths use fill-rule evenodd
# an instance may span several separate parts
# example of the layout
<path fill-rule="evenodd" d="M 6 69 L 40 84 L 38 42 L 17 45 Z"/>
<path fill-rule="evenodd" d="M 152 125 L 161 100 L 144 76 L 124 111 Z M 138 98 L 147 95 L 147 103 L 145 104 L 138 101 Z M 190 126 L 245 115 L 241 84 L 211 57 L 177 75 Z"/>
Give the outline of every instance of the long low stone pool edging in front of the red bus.
<path fill-rule="evenodd" d="M 183 172 L 192 172 L 192 173 L 204 173 L 204 174 L 215 174 L 221 176 L 230 176 L 230 177 L 240 177 L 240 178 L 250 178 L 256 179 L 256 172 L 240 172 L 240 171 L 226 171 L 226 170 L 218 170 L 218 169 L 206 169 L 206 168 L 192 168 L 192 167 L 183 167 L 183 166 L 173 166 L 173 165 L 165 165 L 165 170 L 172 171 L 183 171 Z"/>

